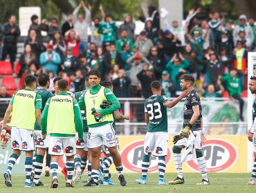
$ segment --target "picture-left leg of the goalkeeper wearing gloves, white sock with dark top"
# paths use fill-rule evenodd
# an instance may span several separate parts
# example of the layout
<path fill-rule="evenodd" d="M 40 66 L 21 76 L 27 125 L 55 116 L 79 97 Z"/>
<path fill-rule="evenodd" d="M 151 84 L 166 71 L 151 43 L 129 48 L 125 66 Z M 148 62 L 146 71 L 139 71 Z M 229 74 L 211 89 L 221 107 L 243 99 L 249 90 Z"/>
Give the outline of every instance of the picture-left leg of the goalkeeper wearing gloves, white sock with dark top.
<path fill-rule="evenodd" d="M 172 152 L 174 153 L 174 164 L 177 170 L 177 177 L 173 181 L 170 181 L 169 184 L 182 184 L 185 183 L 182 172 L 182 163 L 181 163 L 181 150 L 185 148 L 184 146 L 174 145 Z"/>

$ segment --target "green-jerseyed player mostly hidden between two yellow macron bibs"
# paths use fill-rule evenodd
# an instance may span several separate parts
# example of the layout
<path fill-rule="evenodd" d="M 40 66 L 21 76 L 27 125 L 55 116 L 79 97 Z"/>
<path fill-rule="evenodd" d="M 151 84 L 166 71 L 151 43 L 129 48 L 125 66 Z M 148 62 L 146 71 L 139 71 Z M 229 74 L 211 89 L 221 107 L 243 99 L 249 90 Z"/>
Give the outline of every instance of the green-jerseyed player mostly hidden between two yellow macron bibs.
<path fill-rule="evenodd" d="M 46 101 L 53 96 L 53 94 L 47 90 L 50 86 L 50 77 L 47 73 L 42 73 L 37 78 L 37 81 L 39 83 L 39 88 L 36 88 L 35 92 L 41 96 L 42 110 L 44 110 Z M 46 139 L 42 139 L 42 130 L 39 127 L 37 122 L 35 123 L 34 136 L 35 136 L 35 147 L 37 148 L 37 151 L 36 151 L 36 154 L 34 155 L 35 161 L 33 161 L 33 166 L 35 167 L 35 176 L 34 176 L 33 182 L 35 186 L 44 186 L 44 184 L 41 181 L 39 181 L 39 179 L 43 170 L 44 154 L 46 154 L 46 150 L 48 149 L 48 136 L 46 136 Z M 50 161 L 51 161 L 51 156 L 50 156 Z M 48 163 L 48 166 L 50 166 L 50 163 Z M 49 167 L 46 169 L 46 171 L 48 171 L 48 174 L 47 174 L 48 176 L 50 174 Z"/>

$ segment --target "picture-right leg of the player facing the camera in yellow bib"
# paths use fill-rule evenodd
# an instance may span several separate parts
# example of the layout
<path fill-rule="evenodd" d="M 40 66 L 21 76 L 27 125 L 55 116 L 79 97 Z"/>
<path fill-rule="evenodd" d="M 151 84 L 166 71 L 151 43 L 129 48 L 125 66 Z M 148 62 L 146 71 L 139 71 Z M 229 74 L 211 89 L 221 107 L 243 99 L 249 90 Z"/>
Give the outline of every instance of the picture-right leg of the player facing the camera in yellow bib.
<path fill-rule="evenodd" d="M 121 155 L 118 152 L 118 149 L 115 147 L 109 148 L 109 152 L 111 156 L 113 157 L 113 163 L 116 165 L 116 171 L 118 171 L 118 179 L 120 181 L 121 186 L 127 185 L 127 181 L 125 180 L 124 173 L 122 172 L 122 160 Z"/>

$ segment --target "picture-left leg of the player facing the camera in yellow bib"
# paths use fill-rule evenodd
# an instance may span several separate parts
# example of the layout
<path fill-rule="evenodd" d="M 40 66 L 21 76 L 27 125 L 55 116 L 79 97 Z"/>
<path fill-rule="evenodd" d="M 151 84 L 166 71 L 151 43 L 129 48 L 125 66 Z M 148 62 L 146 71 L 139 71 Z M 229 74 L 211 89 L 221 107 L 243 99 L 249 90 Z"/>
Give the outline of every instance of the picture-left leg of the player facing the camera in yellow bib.
<path fill-rule="evenodd" d="M 99 168 L 100 168 L 100 154 L 101 147 L 89 149 L 89 154 L 91 154 L 91 180 L 86 183 L 86 187 L 98 187 L 99 185 Z"/>

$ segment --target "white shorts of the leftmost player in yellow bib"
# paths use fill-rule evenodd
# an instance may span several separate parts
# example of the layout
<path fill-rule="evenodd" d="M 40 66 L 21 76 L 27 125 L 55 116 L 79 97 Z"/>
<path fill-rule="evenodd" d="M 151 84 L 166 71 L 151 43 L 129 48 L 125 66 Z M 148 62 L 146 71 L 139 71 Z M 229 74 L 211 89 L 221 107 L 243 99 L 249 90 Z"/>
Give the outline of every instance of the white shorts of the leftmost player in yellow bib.
<path fill-rule="evenodd" d="M 12 127 L 10 141 L 13 150 L 35 151 L 33 130 Z"/>

